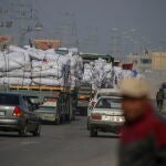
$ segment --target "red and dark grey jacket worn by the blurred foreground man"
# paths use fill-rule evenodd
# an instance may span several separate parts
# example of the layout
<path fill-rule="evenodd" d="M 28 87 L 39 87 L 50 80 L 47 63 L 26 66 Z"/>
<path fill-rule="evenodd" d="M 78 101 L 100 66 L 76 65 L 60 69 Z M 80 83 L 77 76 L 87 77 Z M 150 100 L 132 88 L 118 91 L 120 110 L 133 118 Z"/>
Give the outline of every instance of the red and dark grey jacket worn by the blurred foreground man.
<path fill-rule="evenodd" d="M 166 121 L 147 106 L 122 128 L 120 166 L 166 166 Z"/>

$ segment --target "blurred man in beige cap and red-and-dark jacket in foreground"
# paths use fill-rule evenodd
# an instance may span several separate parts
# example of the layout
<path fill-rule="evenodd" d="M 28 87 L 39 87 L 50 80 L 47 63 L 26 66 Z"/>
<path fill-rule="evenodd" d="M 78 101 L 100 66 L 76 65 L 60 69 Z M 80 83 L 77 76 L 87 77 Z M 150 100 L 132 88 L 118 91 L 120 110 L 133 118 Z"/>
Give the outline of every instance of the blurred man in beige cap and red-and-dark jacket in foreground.
<path fill-rule="evenodd" d="M 123 80 L 125 124 L 120 143 L 120 166 L 166 166 L 166 121 L 154 112 L 148 84 Z"/>

